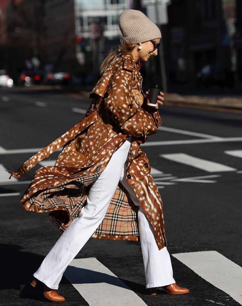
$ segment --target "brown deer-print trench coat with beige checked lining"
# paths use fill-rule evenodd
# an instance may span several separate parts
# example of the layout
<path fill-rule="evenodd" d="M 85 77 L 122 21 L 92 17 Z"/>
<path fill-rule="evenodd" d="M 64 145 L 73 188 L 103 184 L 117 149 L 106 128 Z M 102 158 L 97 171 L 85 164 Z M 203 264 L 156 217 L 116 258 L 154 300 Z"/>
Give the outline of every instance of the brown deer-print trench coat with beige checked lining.
<path fill-rule="evenodd" d="M 91 92 L 92 102 L 84 118 L 16 172 L 9 171 L 11 176 L 21 177 L 65 144 L 54 166 L 36 171 L 20 199 L 26 210 L 50 212 L 50 220 L 63 232 L 85 205 L 90 184 L 105 169 L 114 151 L 132 136 L 126 180 L 154 228 L 158 248 L 166 246 L 162 199 L 147 156 L 140 150 L 140 144 L 157 132 L 161 118 L 158 111 L 143 104 L 141 85 L 132 55 L 116 56 Z M 119 183 L 92 237 L 138 241 L 137 209 Z"/>

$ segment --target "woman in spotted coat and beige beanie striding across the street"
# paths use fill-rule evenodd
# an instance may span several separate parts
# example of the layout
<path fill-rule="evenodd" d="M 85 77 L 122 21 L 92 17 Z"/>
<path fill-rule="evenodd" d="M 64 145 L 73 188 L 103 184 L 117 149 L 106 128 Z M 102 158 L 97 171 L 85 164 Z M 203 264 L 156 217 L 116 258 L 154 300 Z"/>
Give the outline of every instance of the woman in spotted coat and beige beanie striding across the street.
<path fill-rule="evenodd" d="M 162 200 L 146 154 L 139 148 L 161 124 L 158 106 L 147 106 L 139 72 L 140 60 L 157 55 L 161 32 L 137 10 L 123 11 L 119 27 L 124 38 L 102 63 L 87 114 L 11 173 L 21 177 L 67 143 L 55 166 L 36 171 L 20 200 L 26 210 L 50 211 L 51 221 L 64 231 L 31 282 L 33 286 L 42 282 L 44 296 L 52 301 L 65 300 L 57 293 L 62 275 L 91 236 L 140 239 L 151 294 L 155 287 L 170 294 L 189 292 L 173 278 Z M 163 93 L 157 97 L 158 105 L 162 100 Z"/>

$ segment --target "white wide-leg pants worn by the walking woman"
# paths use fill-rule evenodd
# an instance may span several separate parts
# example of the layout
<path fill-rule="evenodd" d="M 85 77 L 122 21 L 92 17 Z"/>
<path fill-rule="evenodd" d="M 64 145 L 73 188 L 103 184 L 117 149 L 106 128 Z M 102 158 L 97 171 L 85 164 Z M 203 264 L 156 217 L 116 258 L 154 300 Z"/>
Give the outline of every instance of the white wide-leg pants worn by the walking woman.
<path fill-rule="evenodd" d="M 158 249 L 153 227 L 125 178 L 130 144 L 131 137 L 128 137 L 128 140 L 114 152 L 105 170 L 92 183 L 86 206 L 61 235 L 35 272 L 34 277 L 49 288 L 58 289 L 65 269 L 102 222 L 119 181 L 128 191 L 134 204 L 140 207 L 138 221 L 146 288 L 175 283 L 169 253 L 166 247 Z"/>

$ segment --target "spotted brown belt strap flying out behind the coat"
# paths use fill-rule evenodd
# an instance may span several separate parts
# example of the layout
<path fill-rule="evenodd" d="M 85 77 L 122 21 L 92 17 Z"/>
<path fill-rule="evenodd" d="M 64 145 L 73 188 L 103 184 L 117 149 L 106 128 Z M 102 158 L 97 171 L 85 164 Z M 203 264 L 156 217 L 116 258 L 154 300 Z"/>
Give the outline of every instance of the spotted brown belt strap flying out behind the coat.
<path fill-rule="evenodd" d="M 35 165 L 41 162 L 44 158 L 50 156 L 50 154 L 54 153 L 56 150 L 58 150 L 60 147 L 62 147 L 70 140 L 74 140 L 76 135 L 78 135 L 86 127 L 97 121 L 97 118 L 98 118 L 98 110 L 94 111 L 90 115 L 85 115 L 85 117 L 75 126 L 73 126 L 71 129 L 69 129 L 69 131 L 65 132 L 65 134 L 54 140 L 47 147 L 43 148 L 41 151 L 39 151 L 38 153 L 33 155 L 30 159 L 28 159 L 26 162 L 24 162 L 23 165 L 16 172 L 5 170 L 11 174 L 9 180 L 12 176 L 16 178 L 22 177 Z"/>

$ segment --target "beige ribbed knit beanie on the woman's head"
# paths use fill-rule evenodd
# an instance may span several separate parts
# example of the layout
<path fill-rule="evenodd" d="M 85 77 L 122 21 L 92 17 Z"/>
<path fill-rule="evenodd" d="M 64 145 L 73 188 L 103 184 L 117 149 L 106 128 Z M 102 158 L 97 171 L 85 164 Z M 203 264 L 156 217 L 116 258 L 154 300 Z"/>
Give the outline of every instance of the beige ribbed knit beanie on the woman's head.
<path fill-rule="evenodd" d="M 161 31 L 153 21 L 136 9 L 126 9 L 118 19 L 122 35 L 130 43 L 144 43 L 161 38 Z"/>

